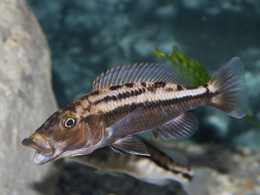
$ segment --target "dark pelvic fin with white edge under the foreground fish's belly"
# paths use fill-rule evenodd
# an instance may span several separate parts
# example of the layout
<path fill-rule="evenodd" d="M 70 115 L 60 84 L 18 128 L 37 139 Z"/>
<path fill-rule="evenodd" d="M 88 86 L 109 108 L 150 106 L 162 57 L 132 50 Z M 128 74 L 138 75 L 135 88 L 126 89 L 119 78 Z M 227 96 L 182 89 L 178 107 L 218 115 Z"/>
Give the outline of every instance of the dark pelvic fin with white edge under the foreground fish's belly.
<path fill-rule="evenodd" d="M 144 142 L 137 136 L 132 135 L 128 136 L 126 138 L 120 139 L 112 146 L 110 146 L 115 152 L 119 152 L 121 154 L 126 154 L 122 153 L 122 151 L 128 152 L 130 154 L 140 154 L 140 155 L 148 155 L 147 149 L 145 147 Z M 118 150 L 119 149 L 119 150 Z"/>

